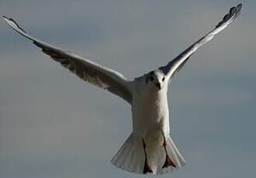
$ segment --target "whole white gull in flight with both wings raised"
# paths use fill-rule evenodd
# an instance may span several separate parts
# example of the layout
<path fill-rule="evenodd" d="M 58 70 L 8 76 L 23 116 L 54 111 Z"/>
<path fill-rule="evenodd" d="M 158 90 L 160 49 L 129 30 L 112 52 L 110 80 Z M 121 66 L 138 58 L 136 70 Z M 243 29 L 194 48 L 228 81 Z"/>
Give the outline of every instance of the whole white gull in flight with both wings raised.
<path fill-rule="evenodd" d="M 185 159 L 170 136 L 168 87 L 171 78 L 182 69 L 192 53 L 233 22 L 240 15 L 241 9 L 241 4 L 232 7 L 212 31 L 189 46 L 174 60 L 134 80 L 128 80 L 115 70 L 44 43 L 29 36 L 13 19 L 6 16 L 3 16 L 3 19 L 17 33 L 30 39 L 43 53 L 61 63 L 61 66 L 76 74 L 81 80 L 106 89 L 130 104 L 133 132 L 113 156 L 111 163 L 114 166 L 131 173 L 163 174 L 185 166 Z"/>

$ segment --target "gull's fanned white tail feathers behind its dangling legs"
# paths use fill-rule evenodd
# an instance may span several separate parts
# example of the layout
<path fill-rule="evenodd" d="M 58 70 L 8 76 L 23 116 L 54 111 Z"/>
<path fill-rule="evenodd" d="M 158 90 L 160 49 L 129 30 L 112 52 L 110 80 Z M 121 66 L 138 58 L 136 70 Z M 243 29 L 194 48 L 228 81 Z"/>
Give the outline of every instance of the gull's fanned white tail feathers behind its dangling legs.
<path fill-rule="evenodd" d="M 185 166 L 185 159 L 183 159 L 180 152 L 178 152 L 178 149 L 170 136 L 166 139 L 166 149 L 168 156 L 176 167 L 168 166 L 167 168 L 162 168 L 165 160 L 165 152 L 162 145 L 157 144 L 157 146 L 150 146 L 150 148 L 147 149 L 148 165 L 150 166 L 150 169 L 153 170 L 154 174 L 171 173 L 180 167 Z M 135 138 L 133 134 L 131 134 L 112 158 L 111 163 L 128 172 L 143 174 L 145 153 L 142 140 Z"/>

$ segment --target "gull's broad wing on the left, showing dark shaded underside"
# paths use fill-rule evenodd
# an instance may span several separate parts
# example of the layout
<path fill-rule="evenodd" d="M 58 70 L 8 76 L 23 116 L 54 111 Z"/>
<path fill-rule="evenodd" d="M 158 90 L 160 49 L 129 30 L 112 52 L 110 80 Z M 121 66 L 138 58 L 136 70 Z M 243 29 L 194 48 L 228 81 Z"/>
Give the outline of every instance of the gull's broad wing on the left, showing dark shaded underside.
<path fill-rule="evenodd" d="M 61 63 L 63 67 L 78 75 L 82 80 L 94 84 L 95 86 L 102 87 L 112 94 L 116 94 L 120 98 L 123 98 L 128 103 L 132 102 L 133 98 L 129 87 L 129 81 L 123 77 L 122 74 L 29 36 L 13 19 L 9 19 L 5 16 L 3 16 L 3 18 L 17 33 L 30 39 L 36 46 L 42 49 L 43 53 L 48 54 L 53 60 Z"/>

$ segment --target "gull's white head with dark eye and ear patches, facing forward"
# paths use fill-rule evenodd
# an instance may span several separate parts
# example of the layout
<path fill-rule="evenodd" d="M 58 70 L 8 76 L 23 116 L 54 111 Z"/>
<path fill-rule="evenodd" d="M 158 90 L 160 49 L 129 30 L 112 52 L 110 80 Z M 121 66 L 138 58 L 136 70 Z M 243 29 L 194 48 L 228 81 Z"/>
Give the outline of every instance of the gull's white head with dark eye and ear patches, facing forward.
<path fill-rule="evenodd" d="M 165 75 L 161 70 L 153 70 L 146 74 L 146 84 L 157 87 L 157 90 L 161 90 L 164 85 Z"/>

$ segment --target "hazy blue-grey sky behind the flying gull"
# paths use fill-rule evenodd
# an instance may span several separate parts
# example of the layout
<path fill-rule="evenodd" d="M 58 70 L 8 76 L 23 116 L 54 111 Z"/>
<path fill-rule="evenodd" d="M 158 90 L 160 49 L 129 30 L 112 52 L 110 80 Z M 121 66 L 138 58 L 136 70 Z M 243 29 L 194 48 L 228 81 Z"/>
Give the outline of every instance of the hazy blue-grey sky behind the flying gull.
<path fill-rule="evenodd" d="M 186 165 L 160 177 L 253 177 L 256 2 L 202 46 L 168 94 Z M 178 56 L 234 0 L 0 0 L 32 36 L 130 80 Z M 0 20 L 0 177 L 142 177 L 109 163 L 130 135 L 130 106 L 86 84 Z M 149 176 L 153 177 L 153 176 Z"/>

